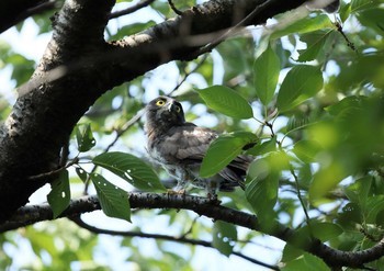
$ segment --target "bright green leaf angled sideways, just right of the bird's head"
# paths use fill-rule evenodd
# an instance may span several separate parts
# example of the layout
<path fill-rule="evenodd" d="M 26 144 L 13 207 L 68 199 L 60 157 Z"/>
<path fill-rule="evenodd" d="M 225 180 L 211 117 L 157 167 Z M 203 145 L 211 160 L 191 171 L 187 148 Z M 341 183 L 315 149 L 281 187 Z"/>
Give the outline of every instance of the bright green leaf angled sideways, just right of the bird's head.
<path fill-rule="evenodd" d="M 253 117 L 252 108 L 239 93 L 224 86 L 212 86 L 197 90 L 206 105 L 227 116 L 236 118 Z"/>

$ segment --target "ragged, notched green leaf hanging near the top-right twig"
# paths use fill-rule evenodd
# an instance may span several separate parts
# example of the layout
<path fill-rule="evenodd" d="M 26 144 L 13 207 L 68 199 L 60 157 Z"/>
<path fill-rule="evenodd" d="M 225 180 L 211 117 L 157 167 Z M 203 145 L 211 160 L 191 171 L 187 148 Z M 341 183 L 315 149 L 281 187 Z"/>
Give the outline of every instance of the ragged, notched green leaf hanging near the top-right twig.
<path fill-rule="evenodd" d="M 296 61 L 312 61 L 324 48 L 325 43 L 332 33 L 331 30 L 319 30 L 301 36 L 301 41 L 307 44 L 306 49 L 298 49 L 298 58 Z"/>

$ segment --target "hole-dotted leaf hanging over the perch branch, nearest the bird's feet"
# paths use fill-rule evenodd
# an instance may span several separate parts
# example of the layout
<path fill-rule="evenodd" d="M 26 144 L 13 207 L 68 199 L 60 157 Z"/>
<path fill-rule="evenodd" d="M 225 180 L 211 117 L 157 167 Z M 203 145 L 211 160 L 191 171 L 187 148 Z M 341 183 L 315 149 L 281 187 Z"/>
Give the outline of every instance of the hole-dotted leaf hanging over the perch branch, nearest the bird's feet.
<path fill-rule="evenodd" d="M 131 222 L 131 205 L 127 192 L 106 181 L 100 174 L 91 174 L 91 180 L 104 214 Z"/>

